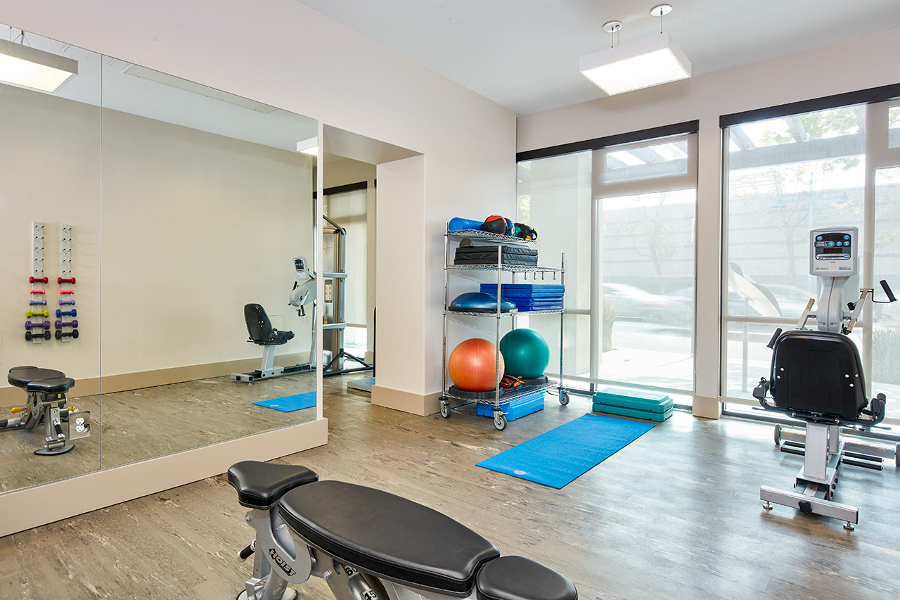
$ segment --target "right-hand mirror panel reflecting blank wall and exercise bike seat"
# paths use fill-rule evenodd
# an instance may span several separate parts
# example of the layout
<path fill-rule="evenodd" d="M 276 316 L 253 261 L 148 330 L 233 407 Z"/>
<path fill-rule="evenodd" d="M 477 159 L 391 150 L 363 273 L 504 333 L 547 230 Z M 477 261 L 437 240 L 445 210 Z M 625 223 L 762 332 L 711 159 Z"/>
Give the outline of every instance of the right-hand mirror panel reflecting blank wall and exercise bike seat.
<path fill-rule="evenodd" d="M 297 144 L 317 131 L 301 115 L 103 57 L 103 467 L 315 418 L 253 404 L 311 391 L 315 373 L 262 386 L 229 374 L 274 377 L 307 360 L 311 311 L 287 298 L 293 258 L 311 265 L 314 254 L 316 159 Z M 263 339 L 246 305 L 292 336 Z M 282 342 L 266 346 L 273 362 L 248 333 Z"/>

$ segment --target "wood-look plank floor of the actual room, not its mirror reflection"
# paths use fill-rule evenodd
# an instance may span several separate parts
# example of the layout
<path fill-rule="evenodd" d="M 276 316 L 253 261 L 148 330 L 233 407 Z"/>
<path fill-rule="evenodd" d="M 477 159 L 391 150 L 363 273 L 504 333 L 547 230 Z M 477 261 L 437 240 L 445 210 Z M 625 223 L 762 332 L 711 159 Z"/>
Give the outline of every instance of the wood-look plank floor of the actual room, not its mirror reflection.
<path fill-rule="evenodd" d="M 676 413 L 555 490 L 475 463 L 585 414 L 587 398 L 548 399 L 498 432 L 471 406 L 448 420 L 372 406 L 347 378 L 326 380 L 329 444 L 281 461 L 432 506 L 502 553 L 562 571 L 582 599 L 900 597 L 893 466 L 842 469 L 836 499 L 860 506 L 855 532 L 766 513 L 759 487 L 788 486 L 799 457 L 775 449 L 768 425 Z M 0 595 L 233 598 L 250 568 L 236 558 L 252 538 L 244 513 L 220 476 L 7 536 Z M 332 600 L 319 579 L 300 589 Z"/>

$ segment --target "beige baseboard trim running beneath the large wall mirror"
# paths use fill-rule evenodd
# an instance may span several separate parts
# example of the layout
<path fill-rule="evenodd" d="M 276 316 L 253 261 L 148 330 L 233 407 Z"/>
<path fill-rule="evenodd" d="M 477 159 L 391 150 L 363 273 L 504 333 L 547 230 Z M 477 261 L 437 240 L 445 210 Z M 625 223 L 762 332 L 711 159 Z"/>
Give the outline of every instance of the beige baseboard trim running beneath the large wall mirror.
<path fill-rule="evenodd" d="M 0 536 L 67 519 L 219 475 L 240 460 L 271 460 L 328 442 L 328 420 L 288 425 L 270 432 L 104 468 L 0 495 Z"/>

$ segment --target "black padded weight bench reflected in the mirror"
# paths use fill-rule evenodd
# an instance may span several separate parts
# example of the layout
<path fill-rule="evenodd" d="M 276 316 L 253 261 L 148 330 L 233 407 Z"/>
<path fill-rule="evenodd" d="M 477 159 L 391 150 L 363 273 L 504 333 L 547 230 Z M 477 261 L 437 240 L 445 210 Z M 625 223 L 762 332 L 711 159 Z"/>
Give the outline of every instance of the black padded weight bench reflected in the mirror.
<path fill-rule="evenodd" d="M 14 367 L 9 369 L 6 380 L 12 386 L 21 387 L 28 401 L 16 413 L 19 416 L 0 421 L 0 429 L 34 429 L 44 423 L 46 442 L 34 450 L 38 455 L 63 454 L 75 446 L 67 442 L 62 431 L 62 421 L 67 419 L 66 392 L 75 386 L 75 379 L 52 368 Z"/>

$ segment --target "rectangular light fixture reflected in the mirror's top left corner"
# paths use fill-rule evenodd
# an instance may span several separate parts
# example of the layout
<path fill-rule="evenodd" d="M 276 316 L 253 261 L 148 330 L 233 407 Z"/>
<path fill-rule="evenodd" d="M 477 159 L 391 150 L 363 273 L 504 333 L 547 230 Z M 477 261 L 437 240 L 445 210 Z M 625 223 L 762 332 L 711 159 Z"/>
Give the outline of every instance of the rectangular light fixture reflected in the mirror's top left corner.
<path fill-rule="evenodd" d="M 77 73 L 77 60 L 0 40 L 0 81 L 53 93 Z"/>

